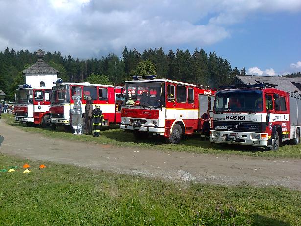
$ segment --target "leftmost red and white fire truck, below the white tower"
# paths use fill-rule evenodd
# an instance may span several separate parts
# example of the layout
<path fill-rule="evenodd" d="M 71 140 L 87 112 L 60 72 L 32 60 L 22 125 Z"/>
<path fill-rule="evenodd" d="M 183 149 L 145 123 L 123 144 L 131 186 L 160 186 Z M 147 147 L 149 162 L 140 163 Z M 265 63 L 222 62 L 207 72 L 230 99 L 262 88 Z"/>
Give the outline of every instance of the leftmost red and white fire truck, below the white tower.
<path fill-rule="evenodd" d="M 20 85 L 15 97 L 15 120 L 27 126 L 49 125 L 51 89 Z"/>

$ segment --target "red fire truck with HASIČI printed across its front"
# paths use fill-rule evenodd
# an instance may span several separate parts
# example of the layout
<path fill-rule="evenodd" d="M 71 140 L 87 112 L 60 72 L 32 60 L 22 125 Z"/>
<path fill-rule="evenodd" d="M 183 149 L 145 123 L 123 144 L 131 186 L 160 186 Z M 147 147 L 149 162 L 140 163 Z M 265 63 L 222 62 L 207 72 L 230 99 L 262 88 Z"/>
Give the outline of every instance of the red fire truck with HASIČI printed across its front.
<path fill-rule="evenodd" d="M 301 95 L 267 84 L 222 87 L 216 93 L 210 140 L 277 150 L 300 143 Z"/>

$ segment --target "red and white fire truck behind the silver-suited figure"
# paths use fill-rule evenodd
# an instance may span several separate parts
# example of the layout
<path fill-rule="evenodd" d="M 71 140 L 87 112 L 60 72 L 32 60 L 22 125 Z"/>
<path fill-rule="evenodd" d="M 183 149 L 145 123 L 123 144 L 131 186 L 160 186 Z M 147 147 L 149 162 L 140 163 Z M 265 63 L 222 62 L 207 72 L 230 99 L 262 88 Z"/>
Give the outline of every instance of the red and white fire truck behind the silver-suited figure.
<path fill-rule="evenodd" d="M 73 109 L 72 96 L 81 96 L 82 113 L 85 111 L 86 97 L 93 99 L 95 104 L 100 106 L 104 114 L 104 125 L 120 123 L 121 121 L 121 104 L 122 104 L 123 87 L 112 85 L 99 85 L 85 83 L 58 83 L 52 87 L 52 98 L 50 104 L 50 122 L 51 128 L 56 126 L 65 126 L 70 128 Z"/>

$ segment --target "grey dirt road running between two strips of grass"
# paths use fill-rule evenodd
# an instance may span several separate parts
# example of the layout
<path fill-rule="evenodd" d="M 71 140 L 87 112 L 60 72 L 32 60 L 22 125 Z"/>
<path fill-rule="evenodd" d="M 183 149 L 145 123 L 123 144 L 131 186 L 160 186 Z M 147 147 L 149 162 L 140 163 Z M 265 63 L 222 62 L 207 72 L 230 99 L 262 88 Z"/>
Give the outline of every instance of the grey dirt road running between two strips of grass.
<path fill-rule="evenodd" d="M 1 152 L 32 160 L 117 173 L 210 184 L 284 186 L 301 190 L 301 159 L 141 150 L 43 137 L 0 120 Z"/>

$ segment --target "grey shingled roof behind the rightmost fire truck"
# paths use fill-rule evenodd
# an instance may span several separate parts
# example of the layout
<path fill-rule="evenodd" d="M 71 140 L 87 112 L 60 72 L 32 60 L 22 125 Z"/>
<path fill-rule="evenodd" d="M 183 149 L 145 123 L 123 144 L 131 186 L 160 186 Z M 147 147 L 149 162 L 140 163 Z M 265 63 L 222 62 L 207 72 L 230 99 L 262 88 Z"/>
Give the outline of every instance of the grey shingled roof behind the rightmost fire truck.
<path fill-rule="evenodd" d="M 272 77 L 272 76 L 251 76 L 251 75 L 237 75 L 232 81 L 234 84 L 256 84 L 258 82 L 265 82 L 276 86 L 277 89 L 292 92 L 301 91 L 301 77 Z"/>

